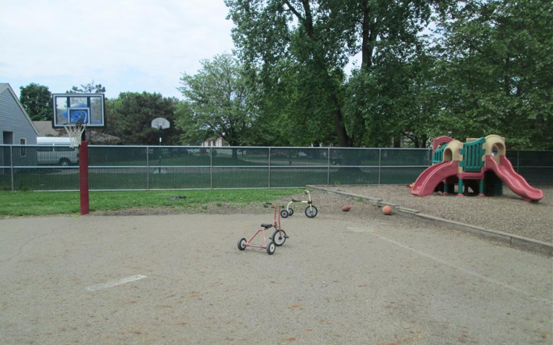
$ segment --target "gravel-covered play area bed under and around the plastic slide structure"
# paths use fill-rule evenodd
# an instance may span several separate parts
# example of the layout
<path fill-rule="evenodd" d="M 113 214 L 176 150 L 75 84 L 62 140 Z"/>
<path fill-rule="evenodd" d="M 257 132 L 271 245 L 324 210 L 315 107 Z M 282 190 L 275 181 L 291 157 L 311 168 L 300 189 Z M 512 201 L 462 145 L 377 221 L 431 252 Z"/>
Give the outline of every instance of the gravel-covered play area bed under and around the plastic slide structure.
<path fill-rule="evenodd" d="M 416 197 L 406 186 L 337 186 L 341 190 L 384 201 L 422 213 L 460 221 L 465 224 L 499 230 L 543 242 L 553 243 L 553 186 L 538 186 L 543 190 L 541 201 L 526 202 L 509 188 L 502 197 L 457 197 L 431 195 Z"/>

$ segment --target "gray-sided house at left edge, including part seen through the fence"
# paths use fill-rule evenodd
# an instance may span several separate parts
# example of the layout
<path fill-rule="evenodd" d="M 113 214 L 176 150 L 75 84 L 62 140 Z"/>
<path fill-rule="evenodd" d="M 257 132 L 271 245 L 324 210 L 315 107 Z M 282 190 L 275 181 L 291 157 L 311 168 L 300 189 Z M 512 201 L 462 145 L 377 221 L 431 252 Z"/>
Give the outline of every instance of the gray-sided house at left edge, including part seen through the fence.
<path fill-rule="evenodd" d="M 1 166 L 28 166 L 37 161 L 35 149 L 19 145 L 36 145 L 38 131 L 8 83 L 0 83 L 0 146 Z M 12 157 L 13 153 L 13 157 Z M 2 169 L 5 170 L 5 169 Z M 0 175 L 2 172 L 0 172 Z"/>

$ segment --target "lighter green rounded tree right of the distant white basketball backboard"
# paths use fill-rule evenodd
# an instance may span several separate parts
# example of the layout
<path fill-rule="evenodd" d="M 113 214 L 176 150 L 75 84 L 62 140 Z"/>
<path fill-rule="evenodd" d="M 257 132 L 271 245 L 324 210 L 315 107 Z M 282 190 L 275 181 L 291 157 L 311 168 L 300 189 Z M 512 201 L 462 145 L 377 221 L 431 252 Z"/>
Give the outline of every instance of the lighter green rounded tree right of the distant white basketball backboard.
<path fill-rule="evenodd" d="M 201 61 L 196 75 L 183 73 L 179 88 L 187 106 L 180 108 L 179 126 L 184 139 L 194 141 L 216 135 L 231 146 L 247 143 L 254 114 L 247 107 L 242 67 L 232 55 L 216 55 Z"/>

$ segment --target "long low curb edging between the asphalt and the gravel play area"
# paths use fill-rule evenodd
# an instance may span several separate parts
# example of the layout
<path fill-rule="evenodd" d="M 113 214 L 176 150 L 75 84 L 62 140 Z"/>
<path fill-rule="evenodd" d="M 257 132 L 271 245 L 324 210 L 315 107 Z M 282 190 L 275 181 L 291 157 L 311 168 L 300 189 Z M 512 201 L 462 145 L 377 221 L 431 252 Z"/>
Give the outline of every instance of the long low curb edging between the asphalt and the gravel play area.
<path fill-rule="evenodd" d="M 472 233 L 474 235 L 487 237 L 489 239 L 495 239 L 496 241 L 505 242 L 512 246 L 521 246 L 528 250 L 533 250 L 538 253 L 543 253 L 546 255 L 553 256 L 553 245 L 548 244 L 546 242 L 541 242 L 536 239 L 529 239 L 527 237 L 513 235 L 509 233 L 503 233 L 501 231 L 497 230 L 489 230 L 485 228 L 480 228 L 480 226 L 474 226 L 469 224 L 460 223 L 458 221 L 453 221 L 449 219 L 444 219 L 440 217 L 434 217 L 432 215 L 426 215 L 424 213 L 420 213 L 418 210 L 413 210 L 411 208 L 404 208 L 402 206 L 399 206 L 397 204 L 393 204 L 391 202 L 386 202 L 382 199 L 377 199 L 374 197 L 366 197 L 364 195 L 357 195 L 353 193 L 347 193 L 344 190 L 332 190 L 329 188 L 324 188 L 323 186 L 313 186 L 308 185 L 306 188 L 313 188 L 317 190 L 324 190 L 328 193 L 335 193 L 339 195 L 345 195 L 347 197 L 358 197 L 364 200 L 368 200 L 369 204 L 382 207 L 382 206 L 392 206 L 395 209 L 395 212 L 407 216 L 407 217 L 413 217 L 417 219 L 422 219 L 424 221 L 429 221 L 434 224 L 439 224 L 440 226 L 447 226 L 449 228 L 453 228 L 460 231 L 465 231 L 466 233 Z"/>

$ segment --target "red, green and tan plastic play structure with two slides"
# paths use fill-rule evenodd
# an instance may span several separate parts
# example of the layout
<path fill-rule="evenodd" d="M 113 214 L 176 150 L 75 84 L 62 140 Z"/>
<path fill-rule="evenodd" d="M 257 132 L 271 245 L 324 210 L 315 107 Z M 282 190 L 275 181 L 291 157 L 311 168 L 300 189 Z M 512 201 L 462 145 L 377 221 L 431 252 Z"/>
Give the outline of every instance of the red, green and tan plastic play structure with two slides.
<path fill-rule="evenodd" d="M 468 193 L 468 187 L 478 195 L 501 195 L 502 182 L 525 201 L 539 201 L 543 192 L 530 186 L 513 169 L 505 157 L 505 138 L 488 135 L 478 139 L 467 139 L 462 143 L 451 137 L 442 136 L 432 144 L 432 166 L 424 170 L 413 184 L 411 194 L 425 197 L 443 188 L 444 195 L 455 192 Z M 442 187 L 443 186 L 443 187 Z M 465 190 L 465 187 L 467 189 Z"/>

